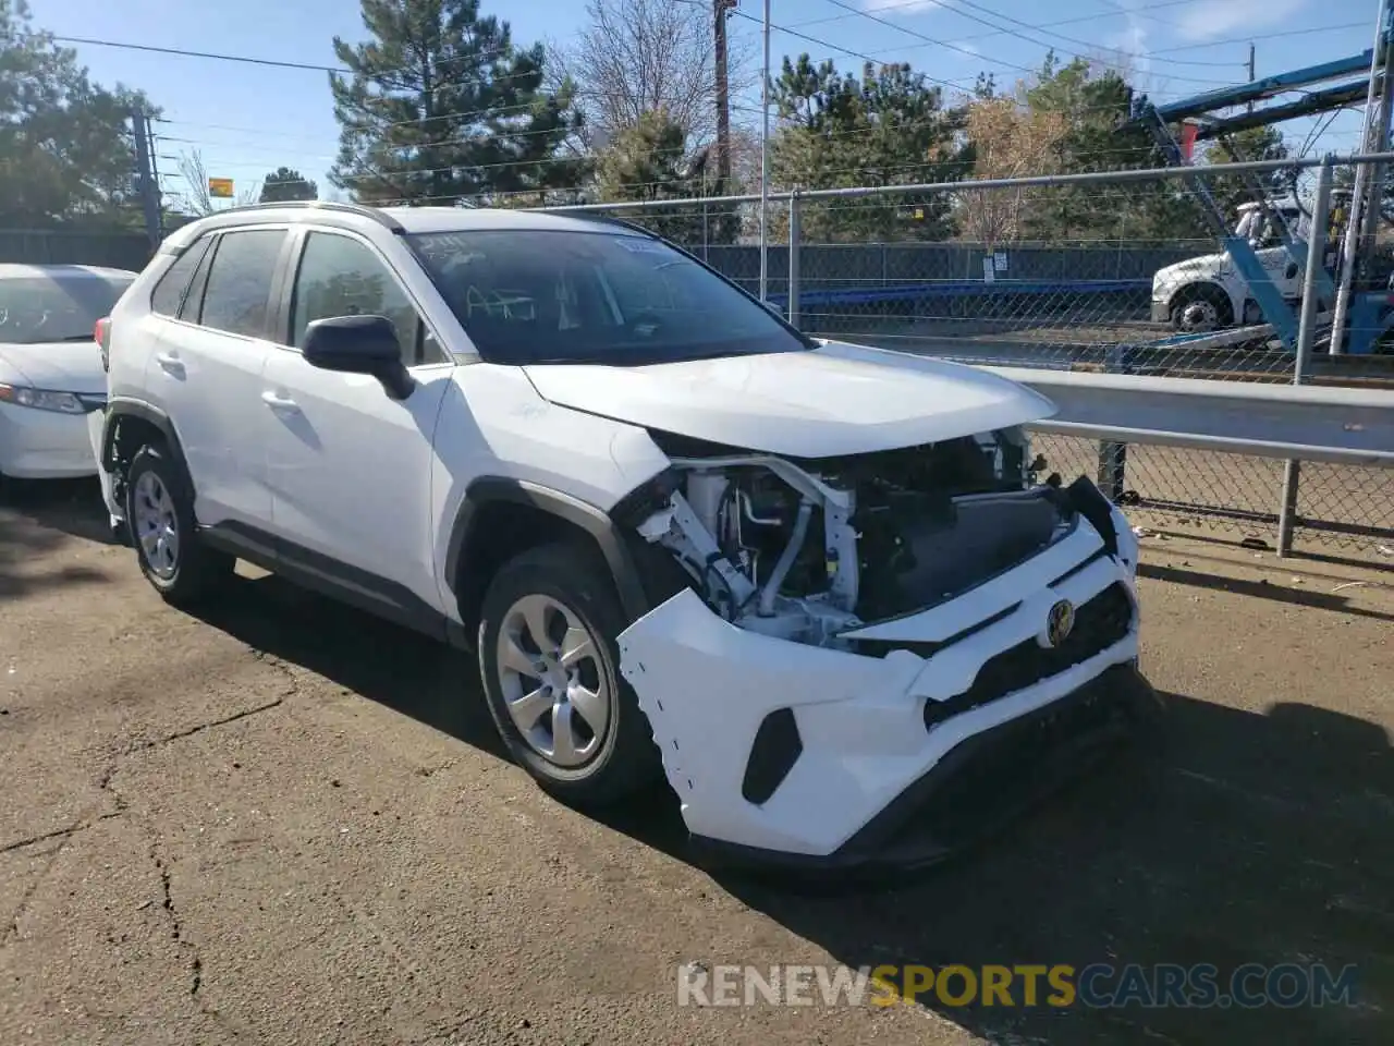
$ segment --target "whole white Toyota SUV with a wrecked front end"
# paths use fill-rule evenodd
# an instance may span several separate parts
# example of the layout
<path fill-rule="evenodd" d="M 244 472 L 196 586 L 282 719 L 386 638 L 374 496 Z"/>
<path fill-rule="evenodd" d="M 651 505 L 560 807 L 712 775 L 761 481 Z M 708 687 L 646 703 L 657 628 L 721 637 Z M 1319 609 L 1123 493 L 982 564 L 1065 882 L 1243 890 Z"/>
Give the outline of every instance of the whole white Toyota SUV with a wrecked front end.
<path fill-rule="evenodd" d="M 1015 803 L 1150 693 L 1132 530 L 1036 480 L 1048 400 L 814 342 L 626 225 L 227 211 L 105 347 L 110 508 L 156 590 L 247 559 L 474 650 L 572 802 L 666 773 L 718 849 L 910 862 L 931 794 Z"/>

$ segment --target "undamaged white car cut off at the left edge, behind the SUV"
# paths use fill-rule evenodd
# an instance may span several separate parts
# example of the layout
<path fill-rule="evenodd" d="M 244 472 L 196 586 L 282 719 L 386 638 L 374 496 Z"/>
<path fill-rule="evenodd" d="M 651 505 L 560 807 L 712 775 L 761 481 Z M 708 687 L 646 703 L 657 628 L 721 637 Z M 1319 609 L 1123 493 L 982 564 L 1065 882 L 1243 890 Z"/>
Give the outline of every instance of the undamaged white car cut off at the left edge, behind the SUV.
<path fill-rule="evenodd" d="M 106 402 L 98 321 L 135 280 L 91 265 L 0 265 L 0 477 L 95 476 Z"/>

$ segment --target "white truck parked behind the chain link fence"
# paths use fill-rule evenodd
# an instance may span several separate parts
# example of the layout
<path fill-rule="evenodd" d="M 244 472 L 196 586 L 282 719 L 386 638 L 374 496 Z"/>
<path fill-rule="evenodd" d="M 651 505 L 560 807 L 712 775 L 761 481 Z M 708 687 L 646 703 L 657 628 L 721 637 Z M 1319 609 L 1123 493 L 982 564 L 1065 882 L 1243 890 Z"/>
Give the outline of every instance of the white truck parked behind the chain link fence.
<path fill-rule="evenodd" d="M 1296 241 L 1295 251 L 1282 245 L 1280 222 Z M 1269 278 L 1292 305 L 1302 296 L 1298 258 L 1306 257 L 1309 225 L 1308 213 L 1289 197 L 1270 201 L 1267 212 L 1257 202 L 1241 204 L 1234 229 L 1255 248 Z M 1234 261 L 1220 251 L 1157 269 L 1151 278 L 1151 319 L 1181 333 L 1204 333 L 1262 324 L 1263 315 Z"/>

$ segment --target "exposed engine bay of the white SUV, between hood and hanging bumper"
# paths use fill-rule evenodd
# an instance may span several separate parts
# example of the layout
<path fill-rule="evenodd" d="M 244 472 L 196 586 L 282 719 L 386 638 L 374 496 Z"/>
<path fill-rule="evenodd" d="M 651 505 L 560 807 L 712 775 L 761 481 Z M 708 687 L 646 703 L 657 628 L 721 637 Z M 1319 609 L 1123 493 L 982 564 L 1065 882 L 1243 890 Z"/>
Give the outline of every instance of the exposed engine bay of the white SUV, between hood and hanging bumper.
<path fill-rule="evenodd" d="M 652 434 L 672 467 L 636 524 L 723 619 L 815 646 L 933 607 L 1068 533 L 1020 428 L 799 460 Z"/>

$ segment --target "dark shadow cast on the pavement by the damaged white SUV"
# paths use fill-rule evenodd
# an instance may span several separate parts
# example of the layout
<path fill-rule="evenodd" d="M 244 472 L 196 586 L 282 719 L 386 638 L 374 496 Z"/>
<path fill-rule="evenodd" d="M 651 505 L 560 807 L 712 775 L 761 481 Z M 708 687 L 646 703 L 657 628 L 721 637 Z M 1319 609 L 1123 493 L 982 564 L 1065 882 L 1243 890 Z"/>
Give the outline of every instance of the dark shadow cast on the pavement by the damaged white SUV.
<path fill-rule="evenodd" d="M 268 577 L 209 623 L 495 756 L 473 661 Z M 1015 827 L 894 887 L 803 894 L 721 874 L 744 904 L 850 967 L 1356 967 L 1354 1006 L 951 1007 L 994 1043 L 1394 1042 L 1394 750 L 1306 704 L 1267 714 L 1164 695 L 1158 745 L 1115 759 Z M 605 819 L 686 856 L 676 801 Z M 740 962 L 742 957 L 705 957 Z M 958 982 L 959 986 L 962 982 Z M 1111 990 L 1104 976 L 1096 987 Z M 1262 980 L 1248 985 L 1262 987 Z"/>

